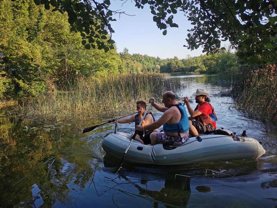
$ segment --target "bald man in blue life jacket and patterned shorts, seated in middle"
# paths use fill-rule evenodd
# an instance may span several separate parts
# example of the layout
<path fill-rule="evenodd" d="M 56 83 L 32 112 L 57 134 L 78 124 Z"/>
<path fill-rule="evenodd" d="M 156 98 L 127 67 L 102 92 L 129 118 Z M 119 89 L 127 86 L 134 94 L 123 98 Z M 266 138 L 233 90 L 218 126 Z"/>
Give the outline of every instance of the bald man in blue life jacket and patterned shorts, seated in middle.
<path fill-rule="evenodd" d="M 155 103 L 154 99 L 150 99 L 149 102 L 154 108 L 164 112 L 159 120 L 143 127 L 144 130 L 151 131 L 163 125 L 164 133 L 151 133 L 151 145 L 157 143 L 180 145 L 185 143 L 189 138 L 190 124 L 185 107 L 182 104 L 176 103 L 175 94 L 167 91 L 162 95 L 162 103 L 165 106 Z M 141 131 L 142 126 L 137 126 L 136 129 Z"/>

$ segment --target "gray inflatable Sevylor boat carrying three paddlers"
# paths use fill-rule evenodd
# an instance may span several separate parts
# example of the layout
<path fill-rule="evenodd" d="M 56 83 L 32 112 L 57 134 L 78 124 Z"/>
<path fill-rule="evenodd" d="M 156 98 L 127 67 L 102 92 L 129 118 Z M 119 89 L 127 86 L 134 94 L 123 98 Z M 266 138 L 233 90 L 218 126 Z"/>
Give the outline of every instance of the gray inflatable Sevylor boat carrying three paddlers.
<path fill-rule="evenodd" d="M 107 155 L 122 158 L 131 141 L 131 134 L 117 132 L 107 135 L 102 147 Z M 229 130 L 189 138 L 183 145 L 154 146 L 133 141 L 124 161 L 138 164 L 174 165 L 220 160 L 258 159 L 266 151 L 255 139 L 234 135 Z"/>

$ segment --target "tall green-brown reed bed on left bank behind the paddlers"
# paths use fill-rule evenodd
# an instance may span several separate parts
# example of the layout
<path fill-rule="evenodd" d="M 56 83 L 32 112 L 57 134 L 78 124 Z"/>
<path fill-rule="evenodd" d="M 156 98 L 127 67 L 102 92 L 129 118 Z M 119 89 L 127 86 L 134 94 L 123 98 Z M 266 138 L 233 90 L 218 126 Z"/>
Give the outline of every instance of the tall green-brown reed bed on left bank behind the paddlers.
<path fill-rule="evenodd" d="M 80 78 L 67 91 L 45 93 L 26 100 L 20 112 L 24 119 L 53 121 L 114 116 L 135 110 L 135 101 L 150 97 L 160 100 L 167 90 L 184 87 L 180 80 L 166 74 L 109 75 Z"/>

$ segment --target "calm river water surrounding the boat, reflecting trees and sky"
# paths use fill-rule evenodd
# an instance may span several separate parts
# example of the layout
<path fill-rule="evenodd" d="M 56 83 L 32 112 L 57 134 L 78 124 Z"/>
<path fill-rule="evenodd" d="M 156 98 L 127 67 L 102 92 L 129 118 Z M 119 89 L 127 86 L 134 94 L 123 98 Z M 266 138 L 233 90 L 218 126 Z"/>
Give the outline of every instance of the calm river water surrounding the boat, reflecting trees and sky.
<path fill-rule="evenodd" d="M 0 117 L 0 207 L 277 207 L 276 123 L 248 118 L 233 108 L 232 98 L 218 96 L 230 90 L 228 76 L 171 79 L 187 86 L 176 92 L 179 97 L 205 88 L 218 114 L 217 127 L 238 134 L 246 130 L 266 154 L 258 160 L 185 166 L 125 164 L 111 174 L 117 161 L 105 157 L 101 143 L 115 124 L 86 134 L 80 130 L 108 118 L 42 127 Z M 134 124 L 119 124 L 119 131 L 134 131 Z"/>

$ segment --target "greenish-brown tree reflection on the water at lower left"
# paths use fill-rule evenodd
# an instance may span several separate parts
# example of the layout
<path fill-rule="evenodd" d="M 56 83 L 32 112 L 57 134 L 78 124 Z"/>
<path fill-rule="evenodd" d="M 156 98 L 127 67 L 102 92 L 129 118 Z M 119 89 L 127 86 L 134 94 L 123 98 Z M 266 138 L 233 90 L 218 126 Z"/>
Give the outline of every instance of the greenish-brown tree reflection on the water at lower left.
<path fill-rule="evenodd" d="M 30 128 L 26 131 L 26 124 L 20 121 L 1 118 L 0 122 L 4 123 L 0 125 L 3 137 L 0 146 L 0 204 L 3 207 L 31 207 L 39 196 L 46 207 L 53 206 L 57 200 L 71 202 L 72 199 L 68 198 L 71 190 L 67 184 L 84 188 L 87 176 L 94 173 L 91 167 L 99 165 L 98 160 L 92 161 L 92 158 L 101 156 L 99 151 L 95 154 L 91 151 L 92 146 L 97 146 L 97 141 L 79 140 L 75 136 L 79 133 L 72 127 L 65 127 L 62 131 L 59 128 L 50 132 Z M 49 170 L 52 157 L 55 161 Z M 34 184 L 40 190 L 35 196 L 31 191 Z"/>

